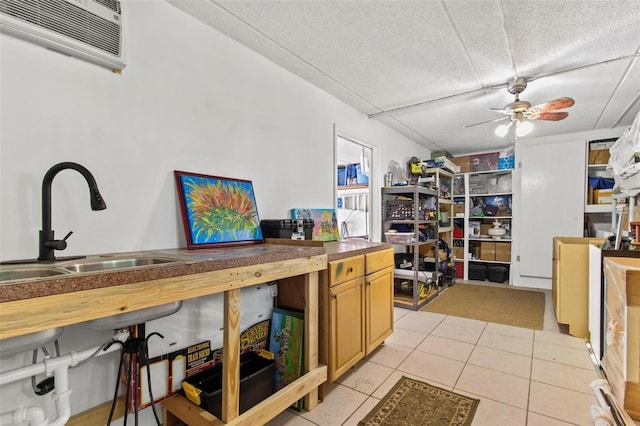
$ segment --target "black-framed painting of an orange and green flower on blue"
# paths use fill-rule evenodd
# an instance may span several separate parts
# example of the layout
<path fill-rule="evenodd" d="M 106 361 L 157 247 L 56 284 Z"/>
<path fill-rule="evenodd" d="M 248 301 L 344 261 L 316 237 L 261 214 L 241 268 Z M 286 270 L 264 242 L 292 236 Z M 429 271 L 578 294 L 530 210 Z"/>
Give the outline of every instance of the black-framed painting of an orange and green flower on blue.
<path fill-rule="evenodd" d="M 189 249 L 264 242 L 251 181 L 173 174 Z"/>

